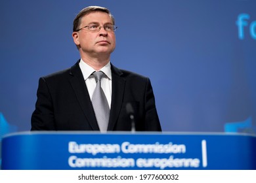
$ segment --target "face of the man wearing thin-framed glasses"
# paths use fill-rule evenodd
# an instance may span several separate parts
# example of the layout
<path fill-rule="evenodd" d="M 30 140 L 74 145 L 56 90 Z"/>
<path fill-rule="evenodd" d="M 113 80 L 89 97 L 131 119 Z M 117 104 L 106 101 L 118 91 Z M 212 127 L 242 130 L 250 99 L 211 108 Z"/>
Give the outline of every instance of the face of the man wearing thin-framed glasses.
<path fill-rule="evenodd" d="M 100 25 L 98 32 L 89 31 L 85 26 Z M 79 46 L 81 54 L 98 56 L 99 54 L 111 54 L 116 48 L 116 36 L 114 31 L 105 31 L 104 25 L 113 24 L 110 16 L 105 12 L 91 12 L 81 19 L 79 28 L 85 27 L 72 34 L 74 42 Z"/>

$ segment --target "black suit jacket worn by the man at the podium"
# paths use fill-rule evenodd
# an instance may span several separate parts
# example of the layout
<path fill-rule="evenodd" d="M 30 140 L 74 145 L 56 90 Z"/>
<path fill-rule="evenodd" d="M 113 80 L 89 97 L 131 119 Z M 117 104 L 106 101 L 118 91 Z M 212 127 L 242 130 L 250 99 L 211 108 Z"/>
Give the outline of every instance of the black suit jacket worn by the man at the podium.
<path fill-rule="evenodd" d="M 150 80 L 114 65 L 111 71 L 108 131 L 131 131 L 127 103 L 131 103 L 135 111 L 136 131 L 161 131 Z M 31 130 L 99 130 L 79 61 L 70 69 L 39 79 Z"/>

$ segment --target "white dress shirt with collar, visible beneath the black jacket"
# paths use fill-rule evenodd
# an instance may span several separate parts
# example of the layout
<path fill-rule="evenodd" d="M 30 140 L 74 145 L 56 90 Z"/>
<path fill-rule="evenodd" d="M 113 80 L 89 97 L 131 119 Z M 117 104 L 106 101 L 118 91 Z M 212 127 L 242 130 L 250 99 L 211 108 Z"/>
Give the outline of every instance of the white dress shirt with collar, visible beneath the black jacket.
<path fill-rule="evenodd" d="M 89 92 L 90 98 L 92 99 L 93 92 L 95 91 L 95 88 L 96 88 L 96 81 L 94 76 L 91 74 L 95 72 L 95 69 L 93 69 L 93 67 L 91 67 L 87 63 L 85 63 L 83 59 L 80 60 L 79 67 L 83 73 L 83 78 L 85 79 L 85 84 L 87 86 L 87 90 Z M 111 69 L 110 69 L 110 62 L 108 62 L 99 71 L 102 71 L 106 75 L 101 79 L 101 88 L 106 95 L 106 99 L 110 107 L 111 96 L 112 96 L 112 75 L 111 75 Z"/>

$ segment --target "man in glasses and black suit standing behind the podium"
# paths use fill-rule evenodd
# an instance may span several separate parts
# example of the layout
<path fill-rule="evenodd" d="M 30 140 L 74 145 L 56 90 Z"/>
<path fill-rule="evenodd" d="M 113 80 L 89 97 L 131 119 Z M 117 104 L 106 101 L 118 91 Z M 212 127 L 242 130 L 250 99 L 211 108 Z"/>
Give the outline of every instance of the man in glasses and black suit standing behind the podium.
<path fill-rule="evenodd" d="M 110 108 L 106 131 L 131 131 L 131 105 L 136 131 L 161 131 L 149 78 L 110 63 L 116 48 L 115 20 L 103 7 L 83 8 L 74 19 L 72 37 L 81 59 L 70 69 L 39 79 L 32 131 L 99 131 L 91 102 L 96 87 L 92 73 L 102 71 L 101 87 Z M 100 130 L 101 131 L 101 130 Z"/>

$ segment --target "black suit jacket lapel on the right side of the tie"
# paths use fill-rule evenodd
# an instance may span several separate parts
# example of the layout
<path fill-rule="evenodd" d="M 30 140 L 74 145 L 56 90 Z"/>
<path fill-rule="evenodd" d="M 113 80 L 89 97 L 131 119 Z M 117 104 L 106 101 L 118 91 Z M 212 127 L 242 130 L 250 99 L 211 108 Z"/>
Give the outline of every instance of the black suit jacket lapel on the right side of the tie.
<path fill-rule="evenodd" d="M 117 122 L 119 112 L 123 103 L 123 93 L 125 91 L 125 79 L 121 77 L 122 72 L 111 65 L 112 71 L 112 102 L 110 108 L 110 120 L 108 131 L 112 131 Z"/>

